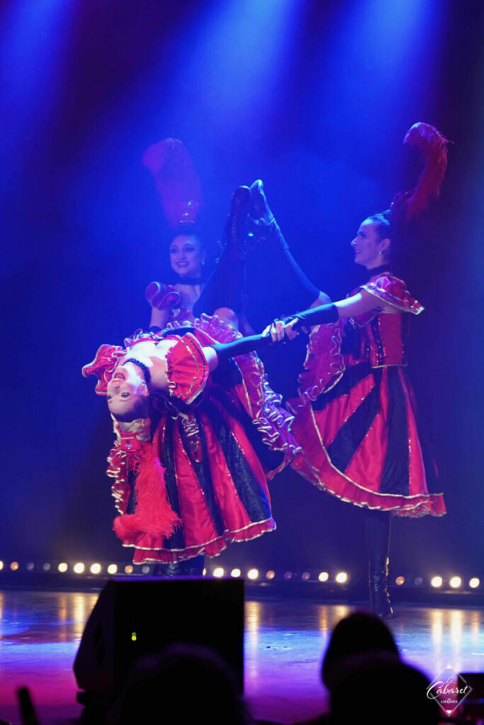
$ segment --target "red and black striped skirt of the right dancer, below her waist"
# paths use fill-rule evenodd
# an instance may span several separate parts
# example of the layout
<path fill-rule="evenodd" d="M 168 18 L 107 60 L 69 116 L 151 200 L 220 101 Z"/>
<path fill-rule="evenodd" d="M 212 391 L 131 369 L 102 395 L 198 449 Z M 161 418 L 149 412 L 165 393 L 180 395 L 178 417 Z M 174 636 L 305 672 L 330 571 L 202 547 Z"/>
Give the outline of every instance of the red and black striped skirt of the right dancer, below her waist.
<path fill-rule="evenodd" d="M 412 517 L 446 513 L 404 368 L 358 363 L 327 392 L 291 408 L 292 432 L 304 443 L 292 466 L 305 479 L 364 508 Z"/>

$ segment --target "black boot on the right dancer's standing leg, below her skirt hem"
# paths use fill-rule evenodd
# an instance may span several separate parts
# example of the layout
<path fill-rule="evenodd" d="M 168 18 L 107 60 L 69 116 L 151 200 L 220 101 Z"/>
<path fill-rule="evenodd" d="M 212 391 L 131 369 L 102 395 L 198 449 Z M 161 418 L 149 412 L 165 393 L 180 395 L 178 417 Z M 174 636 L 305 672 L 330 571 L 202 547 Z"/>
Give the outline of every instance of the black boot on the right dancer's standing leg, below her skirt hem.
<path fill-rule="evenodd" d="M 370 610 L 379 617 L 393 617 L 388 592 L 388 554 L 390 550 L 390 513 L 366 510 L 365 536 L 369 558 Z"/>

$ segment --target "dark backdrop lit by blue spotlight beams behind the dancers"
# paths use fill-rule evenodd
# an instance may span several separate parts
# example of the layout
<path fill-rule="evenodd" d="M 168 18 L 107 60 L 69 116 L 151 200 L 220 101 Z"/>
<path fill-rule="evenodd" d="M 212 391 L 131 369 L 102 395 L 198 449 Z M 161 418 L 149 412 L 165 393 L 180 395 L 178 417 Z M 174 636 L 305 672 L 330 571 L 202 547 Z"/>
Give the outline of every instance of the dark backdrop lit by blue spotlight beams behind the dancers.
<path fill-rule="evenodd" d="M 483 29 L 463 0 L 1 4 L 1 558 L 128 559 L 110 530 L 110 422 L 81 366 L 147 323 L 144 287 L 168 273 L 144 149 L 189 149 L 212 260 L 232 191 L 263 178 L 298 262 L 337 299 L 360 274 L 358 224 L 415 181 L 401 141 L 425 120 L 454 145 L 403 273 L 426 307 L 409 371 L 448 515 L 397 521 L 393 562 L 484 574 Z M 275 387 L 300 353 L 268 360 Z M 271 492 L 278 530 L 224 561 L 359 566 L 358 510 L 291 471 Z"/>

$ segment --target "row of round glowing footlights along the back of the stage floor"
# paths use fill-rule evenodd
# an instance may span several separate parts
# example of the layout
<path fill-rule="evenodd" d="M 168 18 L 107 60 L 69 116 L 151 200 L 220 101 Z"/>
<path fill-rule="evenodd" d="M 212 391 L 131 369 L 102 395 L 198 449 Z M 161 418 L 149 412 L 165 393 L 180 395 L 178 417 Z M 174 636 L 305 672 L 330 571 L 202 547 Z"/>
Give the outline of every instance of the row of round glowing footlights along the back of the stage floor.
<path fill-rule="evenodd" d="M 142 564 L 134 566 L 133 564 L 116 564 L 116 563 L 84 563 L 82 561 L 70 562 L 48 562 L 44 561 L 41 563 L 29 561 L 26 564 L 20 564 L 18 561 L 11 561 L 9 563 L 0 560 L 0 581 L 2 572 L 30 572 L 30 573 L 73 573 L 77 576 L 91 577 L 91 576 L 149 576 L 154 573 L 155 565 L 153 564 Z M 337 571 L 329 573 L 328 571 L 274 571 L 269 569 L 268 571 L 260 571 L 257 568 L 247 568 L 242 571 L 240 568 L 223 568 L 222 566 L 213 566 L 205 568 L 203 570 L 203 576 L 211 576 L 215 579 L 232 578 L 232 579 L 247 579 L 253 584 L 261 584 L 271 581 L 311 581 L 321 582 L 329 584 L 340 584 L 344 586 L 349 584 L 350 575 L 346 571 Z M 467 582 L 467 584 L 466 584 Z M 477 576 L 473 576 L 470 579 L 464 580 L 461 576 L 450 576 L 444 579 L 442 576 L 396 576 L 390 579 L 390 583 L 396 587 L 433 587 L 434 589 L 441 589 L 448 587 L 448 589 L 455 589 L 463 591 L 465 589 L 479 589 L 480 579 Z"/>

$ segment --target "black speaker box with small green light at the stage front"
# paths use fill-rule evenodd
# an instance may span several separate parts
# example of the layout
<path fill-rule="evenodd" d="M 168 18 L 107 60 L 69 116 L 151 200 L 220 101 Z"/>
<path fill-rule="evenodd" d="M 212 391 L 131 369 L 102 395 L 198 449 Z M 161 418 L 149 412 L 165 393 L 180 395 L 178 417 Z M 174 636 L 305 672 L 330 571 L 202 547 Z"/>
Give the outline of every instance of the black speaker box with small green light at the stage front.
<path fill-rule="evenodd" d="M 210 647 L 243 689 L 244 582 L 237 579 L 110 579 L 81 639 L 74 673 L 81 689 L 112 701 L 131 664 L 172 642 Z M 86 697 L 80 695 L 86 704 Z"/>

